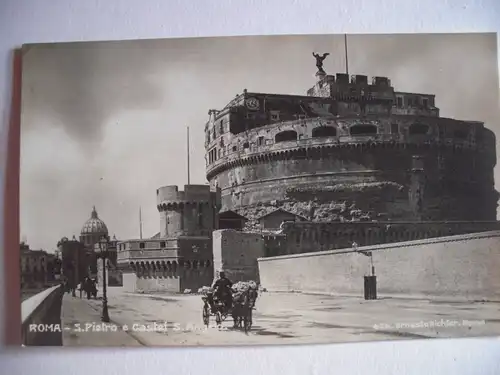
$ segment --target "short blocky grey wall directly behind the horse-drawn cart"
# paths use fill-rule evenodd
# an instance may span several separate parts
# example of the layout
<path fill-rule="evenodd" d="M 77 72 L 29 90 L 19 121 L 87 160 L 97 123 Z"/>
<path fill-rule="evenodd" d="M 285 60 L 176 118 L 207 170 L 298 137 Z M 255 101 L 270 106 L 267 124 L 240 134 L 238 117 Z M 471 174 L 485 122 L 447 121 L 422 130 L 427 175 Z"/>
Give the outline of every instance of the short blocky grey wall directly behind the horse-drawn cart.
<path fill-rule="evenodd" d="M 265 240 L 260 233 L 232 229 L 213 233 L 214 271 L 224 270 L 233 282 L 259 280 L 257 258 L 265 255 Z"/>

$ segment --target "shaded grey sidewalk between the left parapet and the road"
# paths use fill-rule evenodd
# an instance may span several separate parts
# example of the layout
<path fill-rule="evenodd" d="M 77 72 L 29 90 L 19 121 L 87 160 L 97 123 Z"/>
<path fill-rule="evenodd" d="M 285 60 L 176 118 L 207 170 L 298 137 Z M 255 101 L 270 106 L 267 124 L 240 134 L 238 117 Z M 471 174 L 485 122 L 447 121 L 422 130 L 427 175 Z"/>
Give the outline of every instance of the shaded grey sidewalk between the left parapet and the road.
<path fill-rule="evenodd" d="M 64 294 L 61 316 L 63 346 L 142 346 L 128 333 L 112 331 L 113 323 L 102 323 L 101 312 L 85 299 Z"/>

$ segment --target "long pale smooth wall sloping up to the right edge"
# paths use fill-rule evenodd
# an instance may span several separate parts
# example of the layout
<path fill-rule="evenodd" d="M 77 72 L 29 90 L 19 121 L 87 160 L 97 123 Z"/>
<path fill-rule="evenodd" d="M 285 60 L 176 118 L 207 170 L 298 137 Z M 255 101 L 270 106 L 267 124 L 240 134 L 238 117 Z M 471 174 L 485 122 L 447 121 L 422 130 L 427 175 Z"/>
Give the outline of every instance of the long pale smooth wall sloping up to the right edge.
<path fill-rule="evenodd" d="M 500 300 L 500 231 L 361 247 L 371 251 L 378 295 Z M 262 286 L 363 297 L 370 258 L 353 251 L 261 258 Z"/>

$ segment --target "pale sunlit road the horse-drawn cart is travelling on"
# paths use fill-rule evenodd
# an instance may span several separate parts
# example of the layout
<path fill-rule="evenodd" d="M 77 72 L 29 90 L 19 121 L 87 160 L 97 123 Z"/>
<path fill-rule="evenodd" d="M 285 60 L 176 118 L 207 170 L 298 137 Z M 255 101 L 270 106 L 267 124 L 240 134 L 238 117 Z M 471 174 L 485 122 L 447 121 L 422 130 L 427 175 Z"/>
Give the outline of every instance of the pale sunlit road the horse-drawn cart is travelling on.
<path fill-rule="evenodd" d="M 283 345 L 500 335 L 500 304 L 493 302 L 365 301 L 265 292 L 257 300 L 251 332 L 245 334 L 231 328 L 231 319 L 222 330 L 207 329 L 198 295 L 127 294 L 109 288 L 108 300 L 112 322 L 105 326 L 101 300 L 64 296 L 64 345 Z M 105 327 L 108 332 L 98 332 Z"/>

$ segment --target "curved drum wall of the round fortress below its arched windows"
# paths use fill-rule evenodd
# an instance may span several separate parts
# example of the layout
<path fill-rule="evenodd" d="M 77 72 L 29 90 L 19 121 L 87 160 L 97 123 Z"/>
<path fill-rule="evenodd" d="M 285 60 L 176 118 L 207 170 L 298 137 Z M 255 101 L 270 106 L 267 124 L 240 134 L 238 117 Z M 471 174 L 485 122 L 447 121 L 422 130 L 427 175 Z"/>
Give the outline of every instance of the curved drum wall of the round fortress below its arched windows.
<path fill-rule="evenodd" d="M 242 159 L 232 168 L 220 171 L 217 184 L 222 189 L 223 210 L 240 213 L 238 210 L 269 205 L 275 200 L 308 204 L 317 195 L 328 195 L 331 202 L 355 203 L 365 212 L 393 220 L 496 218 L 494 164 L 482 153 L 404 144 L 344 148 L 336 146 L 334 140 L 326 148 L 306 147 L 255 161 L 251 157 Z M 422 160 L 419 179 L 412 171 L 414 157 Z M 384 186 L 384 194 L 377 195 L 377 184 Z M 367 186 L 360 190 L 359 185 Z M 391 190 L 391 186 L 395 188 Z M 420 190 L 422 196 L 419 212 L 415 212 L 411 202 L 415 190 Z"/>

